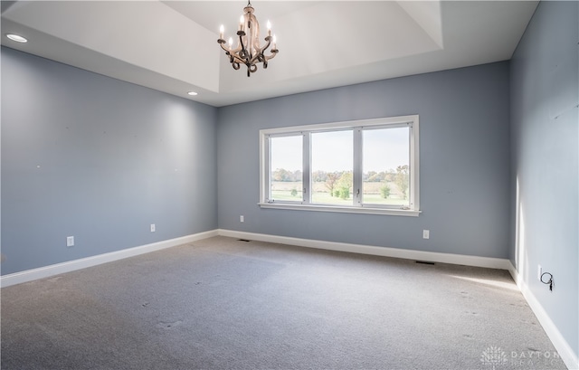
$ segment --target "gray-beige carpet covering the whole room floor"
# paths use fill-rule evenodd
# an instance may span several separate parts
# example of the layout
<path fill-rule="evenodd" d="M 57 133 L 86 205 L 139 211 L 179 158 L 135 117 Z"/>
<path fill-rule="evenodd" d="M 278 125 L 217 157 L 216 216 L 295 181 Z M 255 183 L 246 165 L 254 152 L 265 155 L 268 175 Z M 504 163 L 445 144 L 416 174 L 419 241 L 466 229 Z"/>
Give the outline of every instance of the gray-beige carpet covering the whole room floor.
<path fill-rule="evenodd" d="M 565 369 L 504 270 L 215 237 L 1 294 L 2 369 Z"/>

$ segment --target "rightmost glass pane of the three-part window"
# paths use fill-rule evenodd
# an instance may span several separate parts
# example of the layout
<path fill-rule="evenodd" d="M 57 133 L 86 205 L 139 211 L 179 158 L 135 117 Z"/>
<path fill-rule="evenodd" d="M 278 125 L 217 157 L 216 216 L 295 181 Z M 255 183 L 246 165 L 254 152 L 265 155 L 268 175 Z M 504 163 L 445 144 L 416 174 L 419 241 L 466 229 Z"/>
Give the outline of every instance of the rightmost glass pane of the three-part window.
<path fill-rule="evenodd" d="M 365 129 L 363 140 L 364 204 L 408 207 L 410 129 Z"/>

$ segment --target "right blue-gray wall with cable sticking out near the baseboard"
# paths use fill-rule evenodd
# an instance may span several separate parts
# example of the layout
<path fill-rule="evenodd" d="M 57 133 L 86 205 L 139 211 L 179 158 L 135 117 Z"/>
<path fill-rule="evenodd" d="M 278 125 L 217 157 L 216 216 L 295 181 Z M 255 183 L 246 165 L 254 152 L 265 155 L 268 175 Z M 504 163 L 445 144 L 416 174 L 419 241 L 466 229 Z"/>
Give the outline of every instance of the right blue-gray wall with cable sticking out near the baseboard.
<path fill-rule="evenodd" d="M 541 2 L 511 61 L 509 258 L 579 356 L 579 3 Z M 537 279 L 553 273 L 555 289 Z"/>

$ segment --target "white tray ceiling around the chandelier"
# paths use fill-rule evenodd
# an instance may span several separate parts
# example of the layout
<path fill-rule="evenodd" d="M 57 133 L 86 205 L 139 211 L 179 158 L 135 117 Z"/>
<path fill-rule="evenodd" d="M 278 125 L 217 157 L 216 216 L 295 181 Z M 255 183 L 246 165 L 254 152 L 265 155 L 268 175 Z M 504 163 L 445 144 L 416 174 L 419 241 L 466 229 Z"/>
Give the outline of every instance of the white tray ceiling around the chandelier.
<path fill-rule="evenodd" d="M 1 43 L 221 107 L 508 60 L 537 3 L 254 0 L 280 52 L 250 78 L 217 43 L 220 24 L 233 35 L 244 0 L 2 1 Z"/>

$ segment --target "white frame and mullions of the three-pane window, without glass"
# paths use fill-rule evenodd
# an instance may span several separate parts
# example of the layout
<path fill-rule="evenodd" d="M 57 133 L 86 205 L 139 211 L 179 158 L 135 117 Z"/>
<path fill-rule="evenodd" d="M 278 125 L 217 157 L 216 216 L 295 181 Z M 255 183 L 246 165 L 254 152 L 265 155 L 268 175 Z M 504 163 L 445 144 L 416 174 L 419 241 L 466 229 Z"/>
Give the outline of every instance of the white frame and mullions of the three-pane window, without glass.
<path fill-rule="evenodd" d="M 393 208 L 390 205 L 380 204 L 360 204 L 359 200 L 354 202 L 351 206 L 333 205 L 333 204 L 310 204 L 308 203 L 310 190 L 310 168 L 309 168 L 309 134 L 320 131 L 335 130 L 340 128 L 351 128 L 356 137 L 360 136 L 361 129 L 368 127 L 410 127 L 410 181 L 409 181 L 409 200 L 410 206 L 408 208 Z M 356 129 L 357 128 L 357 129 Z M 418 216 L 420 210 L 420 163 L 419 163 L 419 116 L 400 116 L 389 117 L 382 119 L 363 119 L 343 122 L 330 122 L 308 126 L 294 126 L 287 128 L 267 128 L 260 130 L 260 202 L 261 208 L 274 208 L 285 210 L 299 210 L 299 211 L 321 211 L 321 212 L 337 212 L 337 213 L 366 213 L 366 214 L 387 214 L 387 215 L 403 215 L 403 216 Z M 268 196 L 270 192 L 270 147 L 269 138 L 280 136 L 302 135 L 304 138 L 303 147 L 303 185 L 307 192 L 303 192 L 303 199 L 301 202 L 269 202 Z M 361 189 L 362 178 L 362 158 L 356 153 L 361 151 L 356 150 L 357 144 L 361 140 L 355 140 L 355 154 L 354 154 L 354 172 L 359 171 L 357 184 L 354 184 L 354 189 Z M 356 180 L 355 180 L 356 181 Z M 354 190 L 356 194 L 356 190 Z M 361 196 L 361 195 L 358 195 Z"/>

